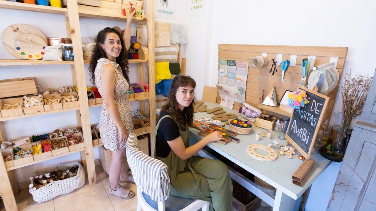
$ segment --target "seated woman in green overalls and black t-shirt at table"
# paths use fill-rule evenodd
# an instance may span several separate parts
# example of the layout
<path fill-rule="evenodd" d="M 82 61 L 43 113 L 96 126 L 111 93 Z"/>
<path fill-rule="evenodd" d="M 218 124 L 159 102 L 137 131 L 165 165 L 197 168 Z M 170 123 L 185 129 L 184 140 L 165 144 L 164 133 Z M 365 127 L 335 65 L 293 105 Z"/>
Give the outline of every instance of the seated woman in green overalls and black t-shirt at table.
<path fill-rule="evenodd" d="M 167 164 L 170 194 L 211 202 L 210 210 L 229 211 L 232 184 L 227 166 L 218 160 L 193 156 L 208 143 L 224 139 L 214 132 L 189 145 L 189 128 L 203 131 L 206 122 L 193 122 L 196 81 L 177 75 L 171 85 L 168 103 L 161 109 L 156 127 L 155 158 Z"/>

